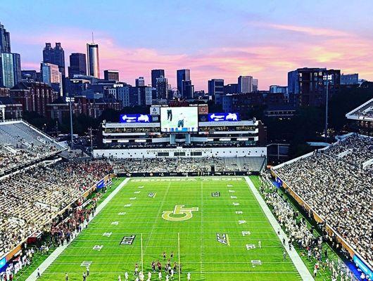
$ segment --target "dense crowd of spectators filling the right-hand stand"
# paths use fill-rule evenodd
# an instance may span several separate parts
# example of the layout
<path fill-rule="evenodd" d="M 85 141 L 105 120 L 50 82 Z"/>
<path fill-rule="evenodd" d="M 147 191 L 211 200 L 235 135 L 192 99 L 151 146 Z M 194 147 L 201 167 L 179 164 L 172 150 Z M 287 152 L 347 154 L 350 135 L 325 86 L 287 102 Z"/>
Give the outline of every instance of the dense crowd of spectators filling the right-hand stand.
<path fill-rule="evenodd" d="M 373 266 L 373 138 L 353 135 L 274 171 Z M 368 164 L 367 164 L 368 163 Z"/>

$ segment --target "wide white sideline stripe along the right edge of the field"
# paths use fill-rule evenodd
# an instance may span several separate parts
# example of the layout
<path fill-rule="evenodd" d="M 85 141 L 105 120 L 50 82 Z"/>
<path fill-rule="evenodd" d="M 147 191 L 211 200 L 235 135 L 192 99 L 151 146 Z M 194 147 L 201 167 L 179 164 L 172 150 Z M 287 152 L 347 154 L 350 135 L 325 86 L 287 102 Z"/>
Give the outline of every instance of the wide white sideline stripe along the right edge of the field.
<path fill-rule="evenodd" d="M 265 204 L 265 201 L 263 200 L 263 197 L 259 194 L 258 190 L 255 188 L 255 185 L 251 181 L 248 176 L 245 176 L 246 183 L 248 184 L 248 187 L 250 188 L 251 192 L 253 192 L 256 200 L 258 200 L 260 207 L 263 209 L 265 216 L 267 216 L 268 221 L 270 221 L 270 224 L 276 233 L 276 235 L 279 237 L 279 240 L 282 242 L 282 240 L 285 239 L 286 242 L 289 242 L 289 238 L 287 237 L 286 233 L 284 233 L 284 230 L 282 230 L 281 226 L 277 222 L 277 219 L 274 218 L 274 215 L 270 211 L 270 208 L 268 208 L 267 204 Z M 277 233 L 277 230 L 279 230 L 279 234 Z M 301 257 L 298 255 L 298 252 L 294 247 L 292 247 L 291 250 L 289 250 L 289 247 L 284 247 L 286 249 L 287 254 L 289 255 L 291 261 L 293 261 L 294 266 L 296 266 L 296 270 L 298 270 L 298 273 L 301 275 L 302 280 L 311 281 L 314 280 L 310 271 L 303 263 Z"/>

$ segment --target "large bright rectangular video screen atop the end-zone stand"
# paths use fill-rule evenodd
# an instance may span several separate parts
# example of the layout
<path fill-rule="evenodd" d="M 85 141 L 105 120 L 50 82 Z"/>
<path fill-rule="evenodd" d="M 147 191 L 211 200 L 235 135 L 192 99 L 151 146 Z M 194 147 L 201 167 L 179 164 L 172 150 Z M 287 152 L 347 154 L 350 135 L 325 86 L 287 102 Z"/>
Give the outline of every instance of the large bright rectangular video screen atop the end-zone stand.
<path fill-rule="evenodd" d="M 198 131 L 198 107 L 160 107 L 160 131 Z"/>

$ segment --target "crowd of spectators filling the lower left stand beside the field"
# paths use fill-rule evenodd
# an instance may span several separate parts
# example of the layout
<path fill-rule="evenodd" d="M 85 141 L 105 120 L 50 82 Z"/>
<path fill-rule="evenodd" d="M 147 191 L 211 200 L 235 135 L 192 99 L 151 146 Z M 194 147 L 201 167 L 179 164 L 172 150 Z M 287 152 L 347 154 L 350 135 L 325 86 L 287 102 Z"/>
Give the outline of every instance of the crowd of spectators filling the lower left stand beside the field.
<path fill-rule="evenodd" d="M 112 171 L 106 161 L 34 166 L 0 180 L 0 256 Z"/>

